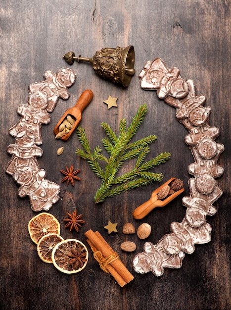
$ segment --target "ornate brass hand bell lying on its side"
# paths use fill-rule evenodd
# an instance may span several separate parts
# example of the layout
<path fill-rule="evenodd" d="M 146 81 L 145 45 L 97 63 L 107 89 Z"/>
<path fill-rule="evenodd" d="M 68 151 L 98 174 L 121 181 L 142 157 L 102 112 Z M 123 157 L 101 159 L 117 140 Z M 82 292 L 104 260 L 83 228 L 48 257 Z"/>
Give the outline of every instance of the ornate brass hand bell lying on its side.
<path fill-rule="evenodd" d="M 127 48 L 102 48 L 92 58 L 81 57 L 81 55 L 75 57 L 74 52 L 67 52 L 63 58 L 69 64 L 73 64 L 75 60 L 91 62 L 95 73 L 124 87 L 129 86 L 132 76 L 136 72 L 134 69 L 135 51 L 132 45 Z"/>

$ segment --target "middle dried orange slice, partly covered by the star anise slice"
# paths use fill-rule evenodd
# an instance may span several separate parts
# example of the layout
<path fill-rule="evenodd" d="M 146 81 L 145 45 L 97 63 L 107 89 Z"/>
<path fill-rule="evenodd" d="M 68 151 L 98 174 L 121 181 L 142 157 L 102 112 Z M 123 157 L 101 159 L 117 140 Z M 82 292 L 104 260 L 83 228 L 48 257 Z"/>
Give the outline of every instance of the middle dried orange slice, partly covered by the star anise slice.
<path fill-rule="evenodd" d="M 39 257 L 45 262 L 52 263 L 52 250 L 61 241 L 63 241 L 63 238 L 57 234 L 43 236 L 37 245 Z"/>

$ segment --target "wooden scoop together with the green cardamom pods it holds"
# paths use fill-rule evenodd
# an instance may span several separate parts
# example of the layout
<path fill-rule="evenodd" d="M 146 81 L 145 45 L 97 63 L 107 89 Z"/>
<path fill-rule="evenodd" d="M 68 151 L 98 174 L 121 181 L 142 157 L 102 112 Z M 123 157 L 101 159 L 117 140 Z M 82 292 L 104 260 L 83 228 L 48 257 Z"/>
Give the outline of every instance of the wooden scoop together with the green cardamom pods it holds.
<path fill-rule="evenodd" d="M 90 89 L 85 90 L 77 101 L 76 105 L 66 110 L 63 116 L 54 127 L 56 139 L 68 140 L 75 128 L 82 119 L 83 110 L 92 101 L 93 93 Z"/>

